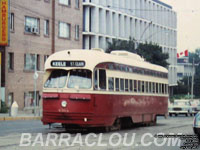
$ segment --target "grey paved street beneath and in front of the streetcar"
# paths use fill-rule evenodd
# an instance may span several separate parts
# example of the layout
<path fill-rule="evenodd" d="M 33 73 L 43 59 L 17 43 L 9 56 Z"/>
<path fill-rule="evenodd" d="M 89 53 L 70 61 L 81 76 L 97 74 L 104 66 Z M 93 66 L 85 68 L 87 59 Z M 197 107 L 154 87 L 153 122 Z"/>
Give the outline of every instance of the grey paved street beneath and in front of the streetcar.
<path fill-rule="evenodd" d="M 54 125 L 53 128 L 49 129 L 48 126 L 43 126 L 40 121 L 2 121 L 0 122 L 0 149 L 72 149 L 72 150 L 177 150 L 180 149 L 178 142 L 175 143 L 175 146 L 167 144 L 164 138 L 153 138 L 158 133 L 182 133 L 182 134 L 193 134 L 192 130 L 193 117 L 171 117 L 168 119 L 158 118 L 158 123 L 156 126 L 139 126 L 129 129 L 123 129 L 121 131 L 113 131 L 109 133 L 99 133 L 90 134 L 87 131 L 65 131 L 61 126 Z M 81 134 L 77 134 L 81 132 Z M 20 146 L 20 139 L 22 133 L 28 133 L 29 140 L 27 135 L 24 135 L 24 141 Z M 51 133 L 51 139 L 56 138 L 55 142 L 47 140 L 49 133 Z M 70 135 L 68 142 L 59 143 L 59 139 L 63 136 Z M 64 137 L 64 136 L 63 136 Z M 121 139 L 121 141 L 120 141 Z M 155 140 L 156 139 L 156 140 Z M 134 141 L 131 143 L 131 140 Z M 169 140 L 169 139 L 168 139 Z M 82 146 L 80 144 L 82 142 Z M 125 145 L 123 142 L 125 141 Z M 119 142 L 119 143 L 118 143 Z M 181 145 L 184 141 L 181 142 Z M 118 143 L 118 144 L 117 144 Z M 163 143 L 163 144 L 162 144 Z M 25 146 L 28 145 L 29 146 Z M 47 144 L 48 146 L 45 146 Z M 60 144 L 60 145 L 59 145 Z M 91 144 L 92 146 L 88 146 Z M 99 146 L 100 144 L 101 146 Z M 113 145 L 112 145 L 113 144 Z M 115 145 L 116 144 L 116 145 Z M 161 146 L 160 146 L 161 145 Z"/>

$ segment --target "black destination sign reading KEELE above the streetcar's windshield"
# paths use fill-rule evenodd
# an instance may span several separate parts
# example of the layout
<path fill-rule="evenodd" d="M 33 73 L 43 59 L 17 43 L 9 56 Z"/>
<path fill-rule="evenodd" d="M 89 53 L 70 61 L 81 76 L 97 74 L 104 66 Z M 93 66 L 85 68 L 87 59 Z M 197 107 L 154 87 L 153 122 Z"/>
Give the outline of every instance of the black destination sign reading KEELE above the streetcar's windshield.
<path fill-rule="evenodd" d="M 84 67 L 84 61 L 51 61 L 52 67 Z"/>

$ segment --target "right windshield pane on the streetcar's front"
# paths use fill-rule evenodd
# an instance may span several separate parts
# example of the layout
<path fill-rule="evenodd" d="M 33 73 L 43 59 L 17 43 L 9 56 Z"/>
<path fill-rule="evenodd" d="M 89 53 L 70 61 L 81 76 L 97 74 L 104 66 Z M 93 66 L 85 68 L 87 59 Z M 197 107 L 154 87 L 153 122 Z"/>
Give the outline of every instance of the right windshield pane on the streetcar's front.
<path fill-rule="evenodd" d="M 92 72 L 89 70 L 71 70 L 68 80 L 68 88 L 90 89 L 92 86 Z"/>

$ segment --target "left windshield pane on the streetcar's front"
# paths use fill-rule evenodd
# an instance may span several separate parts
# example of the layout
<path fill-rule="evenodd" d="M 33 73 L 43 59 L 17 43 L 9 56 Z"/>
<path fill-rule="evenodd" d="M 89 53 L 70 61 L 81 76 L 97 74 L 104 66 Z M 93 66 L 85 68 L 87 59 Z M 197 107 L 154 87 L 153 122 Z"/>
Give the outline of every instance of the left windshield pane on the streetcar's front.
<path fill-rule="evenodd" d="M 66 85 L 68 71 L 53 70 L 44 84 L 45 88 L 63 88 Z"/>

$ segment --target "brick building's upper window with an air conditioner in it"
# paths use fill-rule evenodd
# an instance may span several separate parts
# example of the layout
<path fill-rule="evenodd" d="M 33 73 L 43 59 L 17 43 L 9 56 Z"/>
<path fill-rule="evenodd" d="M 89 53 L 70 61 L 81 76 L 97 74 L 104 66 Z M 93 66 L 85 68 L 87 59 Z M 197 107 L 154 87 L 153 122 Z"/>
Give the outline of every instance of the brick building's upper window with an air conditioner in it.
<path fill-rule="evenodd" d="M 39 34 L 40 20 L 34 17 L 25 17 L 25 32 Z"/>

